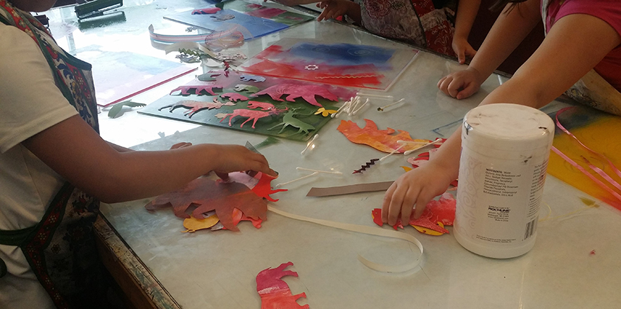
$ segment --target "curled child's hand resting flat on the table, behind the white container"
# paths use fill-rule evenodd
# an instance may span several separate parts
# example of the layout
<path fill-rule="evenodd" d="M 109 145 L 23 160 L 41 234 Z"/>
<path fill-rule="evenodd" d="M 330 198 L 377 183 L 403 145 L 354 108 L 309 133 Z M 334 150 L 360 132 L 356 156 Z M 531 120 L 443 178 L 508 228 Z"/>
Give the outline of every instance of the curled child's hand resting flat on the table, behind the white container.
<path fill-rule="evenodd" d="M 472 67 L 468 67 L 466 70 L 442 77 L 440 81 L 438 81 L 438 88 L 447 95 L 461 100 L 479 91 L 483 81 L 485 80 L 481 77 L 479 71 Z"/>

